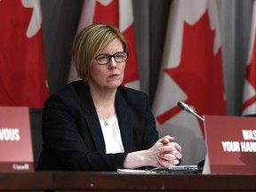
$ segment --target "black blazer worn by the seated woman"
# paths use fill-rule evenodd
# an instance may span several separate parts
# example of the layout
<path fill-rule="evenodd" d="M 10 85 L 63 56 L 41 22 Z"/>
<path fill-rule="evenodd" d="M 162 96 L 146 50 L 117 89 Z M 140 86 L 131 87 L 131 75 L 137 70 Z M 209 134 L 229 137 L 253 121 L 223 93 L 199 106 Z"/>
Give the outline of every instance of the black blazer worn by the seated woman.
<path fill-rule="evenodd" d="M 88 84 L 72 82 L 52 94 L 44 103 L 37 170 L 116 171 L 129 152 L 151 148 L 158 132 L 147 95 L 119 86 L 115 106 L 124 153 L 106 154 Z"/>

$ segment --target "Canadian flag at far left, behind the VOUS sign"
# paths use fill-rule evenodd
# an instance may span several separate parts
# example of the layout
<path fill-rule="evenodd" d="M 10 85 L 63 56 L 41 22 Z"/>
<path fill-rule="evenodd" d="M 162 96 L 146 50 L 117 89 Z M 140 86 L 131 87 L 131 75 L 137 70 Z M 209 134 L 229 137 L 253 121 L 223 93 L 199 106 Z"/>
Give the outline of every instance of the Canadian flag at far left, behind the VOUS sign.
<path fill-rule="evenodd" d="M 39 0 L 0 1 L 0 105 L 43 108 L 46 84 Z"/>

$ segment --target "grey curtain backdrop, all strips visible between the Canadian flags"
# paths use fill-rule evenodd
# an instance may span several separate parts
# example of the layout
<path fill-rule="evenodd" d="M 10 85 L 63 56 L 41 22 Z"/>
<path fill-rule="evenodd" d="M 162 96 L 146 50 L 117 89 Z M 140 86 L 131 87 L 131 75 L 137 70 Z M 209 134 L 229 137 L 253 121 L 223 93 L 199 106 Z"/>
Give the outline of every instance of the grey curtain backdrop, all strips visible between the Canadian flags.
<path fill-rule="evenodd" d="M 218 0 L 228 115 L 242 114 L 252 1 Z M 44 51 L 51 93 L 67 84 L 70 48 L 83 3 L 83 0 L 41 0 Z M 151 103 L 156 94 L 171 4 L 172 0 L 133 0 L 140 87 L 142 92 L 148 93 Z"/>

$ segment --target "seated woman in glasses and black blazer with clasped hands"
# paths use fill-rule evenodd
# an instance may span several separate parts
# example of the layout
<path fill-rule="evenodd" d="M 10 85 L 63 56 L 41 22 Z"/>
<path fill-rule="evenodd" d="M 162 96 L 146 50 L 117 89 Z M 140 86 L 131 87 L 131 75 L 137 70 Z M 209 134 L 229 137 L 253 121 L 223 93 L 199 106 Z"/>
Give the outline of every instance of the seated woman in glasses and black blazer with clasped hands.
<path fill-rule="evenodd" d="M 181 158 L 174 138 L 158 140 L 146 94 L 122 86 L 127 45 L 112 26 L 84 28 L 72 46 L 81 81 L 44 103 L 38 170 L 116 171 L 171 167 Z"/>

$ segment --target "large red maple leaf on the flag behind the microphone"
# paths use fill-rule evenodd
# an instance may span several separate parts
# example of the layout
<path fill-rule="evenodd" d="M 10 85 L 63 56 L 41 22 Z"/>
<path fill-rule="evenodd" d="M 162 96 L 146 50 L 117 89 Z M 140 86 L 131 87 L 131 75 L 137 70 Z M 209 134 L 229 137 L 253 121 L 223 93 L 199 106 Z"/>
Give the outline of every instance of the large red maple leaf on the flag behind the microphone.
<path fill-rule="evenodd" d="M 184 22 L 180 65 L 164 70 L 186 92 L 188 100 L 184 101 L 196 108 L 199 115 L 227 115 L 221 49 L 214 55 L 214 37 L 207 11 L 193 26 Z M 157 120 L 163 124 L 179 112 L 179 107 L 171 108 Z M 198 121 L 204 135 L 204 124 Z"/>

